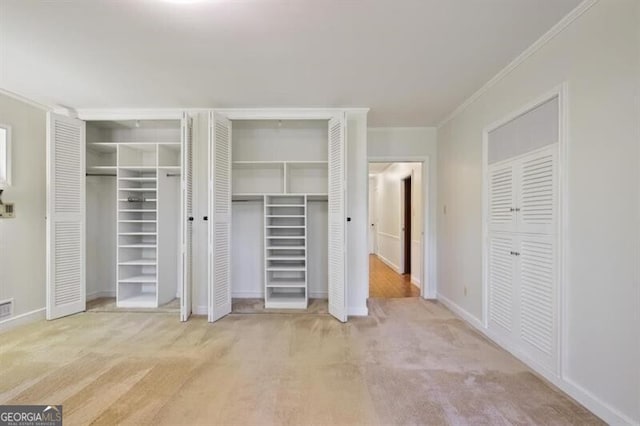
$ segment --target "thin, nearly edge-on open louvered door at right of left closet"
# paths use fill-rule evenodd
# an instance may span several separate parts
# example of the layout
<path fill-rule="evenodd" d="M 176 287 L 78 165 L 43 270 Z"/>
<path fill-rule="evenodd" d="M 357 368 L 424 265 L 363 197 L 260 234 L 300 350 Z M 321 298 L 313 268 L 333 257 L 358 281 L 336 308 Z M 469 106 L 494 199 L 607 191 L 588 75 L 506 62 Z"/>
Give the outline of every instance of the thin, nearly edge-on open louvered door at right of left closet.
<path fill-rule="evenodd" d="M 193 286 L 193 126 L 191 118 L 182 117 L 182 292 L 180 320 L 191 316 Z"/>

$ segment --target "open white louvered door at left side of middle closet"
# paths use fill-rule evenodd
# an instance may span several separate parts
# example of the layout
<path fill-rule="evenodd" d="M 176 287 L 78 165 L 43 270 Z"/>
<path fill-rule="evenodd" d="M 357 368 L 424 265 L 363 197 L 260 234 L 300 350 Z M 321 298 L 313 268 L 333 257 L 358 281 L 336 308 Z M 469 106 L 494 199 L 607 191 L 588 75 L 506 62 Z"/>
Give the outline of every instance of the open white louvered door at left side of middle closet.
<path fill-rule="evenodd" d="M 231 121 L 211 113 L 209 321 L 231 312 Z"/>

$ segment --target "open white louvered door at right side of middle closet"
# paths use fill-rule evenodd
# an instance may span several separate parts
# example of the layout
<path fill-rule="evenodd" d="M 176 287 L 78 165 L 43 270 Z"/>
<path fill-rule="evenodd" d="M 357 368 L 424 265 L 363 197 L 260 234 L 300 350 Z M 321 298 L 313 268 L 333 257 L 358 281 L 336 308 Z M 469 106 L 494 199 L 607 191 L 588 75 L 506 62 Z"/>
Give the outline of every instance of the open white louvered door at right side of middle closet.
<path fill-rule="evenodd" d="M 329 313 L 347 320 L 344 115 L 329 120 Z"/>

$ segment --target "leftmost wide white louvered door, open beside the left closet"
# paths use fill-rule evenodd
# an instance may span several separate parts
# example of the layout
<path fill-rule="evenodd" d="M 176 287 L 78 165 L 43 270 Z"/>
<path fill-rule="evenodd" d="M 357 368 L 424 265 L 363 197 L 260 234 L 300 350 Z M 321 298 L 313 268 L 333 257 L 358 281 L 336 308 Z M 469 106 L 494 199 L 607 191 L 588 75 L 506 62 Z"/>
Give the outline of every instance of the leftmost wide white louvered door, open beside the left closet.
<path fill-rule="evenodd" d="M 47 115 L 47 319 L 85 310 L 85 123 Z"/>

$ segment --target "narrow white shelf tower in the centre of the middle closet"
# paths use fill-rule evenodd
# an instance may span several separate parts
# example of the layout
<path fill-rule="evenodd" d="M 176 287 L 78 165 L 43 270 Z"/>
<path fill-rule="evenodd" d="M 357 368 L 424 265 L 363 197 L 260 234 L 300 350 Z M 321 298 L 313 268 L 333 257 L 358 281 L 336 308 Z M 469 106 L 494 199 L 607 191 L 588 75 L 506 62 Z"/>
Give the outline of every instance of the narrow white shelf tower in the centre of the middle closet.
<path fill-rule="evenodd" d="M 306 195 L 265 195 L 264 224 L 265 307 L 306 309 Z"/>

